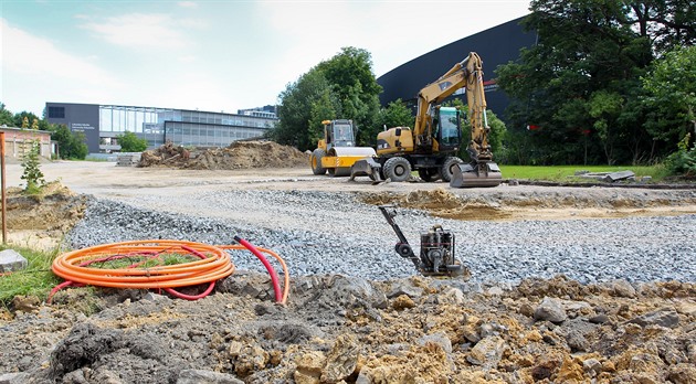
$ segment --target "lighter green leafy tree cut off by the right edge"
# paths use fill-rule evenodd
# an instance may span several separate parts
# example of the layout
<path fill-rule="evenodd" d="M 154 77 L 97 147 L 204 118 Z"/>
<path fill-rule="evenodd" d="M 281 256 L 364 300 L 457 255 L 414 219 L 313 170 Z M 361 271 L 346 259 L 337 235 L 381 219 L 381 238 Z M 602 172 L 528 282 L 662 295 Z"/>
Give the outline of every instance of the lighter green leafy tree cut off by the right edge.
<path fill-rule="evenodd" d="M 696 136 L 696 46 L 677 47 L 657 60 L 643 87 L 646 126 L 655 139 L 673 147 L 688 131 Z"/>

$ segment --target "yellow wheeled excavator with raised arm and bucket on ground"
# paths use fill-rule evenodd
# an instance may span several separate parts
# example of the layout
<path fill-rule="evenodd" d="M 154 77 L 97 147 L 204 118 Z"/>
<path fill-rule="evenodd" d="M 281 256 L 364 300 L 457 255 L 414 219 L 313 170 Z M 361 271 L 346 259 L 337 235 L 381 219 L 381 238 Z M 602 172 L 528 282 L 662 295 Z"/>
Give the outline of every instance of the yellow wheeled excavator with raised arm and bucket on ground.
<path fill-rule="evenodd" d="M 461 88 L 466 89 L 467 118 L 472 126 L 467 147 L 470 163 L 456 157 L 462 143 L 460 110 L 440 106 Z M 416 170 L 424 181 L 442 179 L 454 188 L 496 186 L 503 178 L 493 162 L 489 132 L 482 60 L 472 52 L 421 89 L 413 129 L 394 127 L 378 134 L 377 156 L 356 161 L 351 179 L 369 175 L 372 180 L 405 181 L 411 171 Z"/>

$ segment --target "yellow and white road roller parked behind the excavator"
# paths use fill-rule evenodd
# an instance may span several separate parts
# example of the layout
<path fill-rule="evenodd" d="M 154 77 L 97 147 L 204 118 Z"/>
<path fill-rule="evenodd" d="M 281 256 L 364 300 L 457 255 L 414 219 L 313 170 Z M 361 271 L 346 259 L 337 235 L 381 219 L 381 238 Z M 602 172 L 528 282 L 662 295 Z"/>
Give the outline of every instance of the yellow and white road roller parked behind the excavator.
<path fill-rule="evenodd" d="M 347 177 L 352 164 L 366 157 L 376 156 L 370 147 L 356 147 L 352 120 L 324 120 L 324 138 L 312 152 L 309 162 L 314 174 Z"/>

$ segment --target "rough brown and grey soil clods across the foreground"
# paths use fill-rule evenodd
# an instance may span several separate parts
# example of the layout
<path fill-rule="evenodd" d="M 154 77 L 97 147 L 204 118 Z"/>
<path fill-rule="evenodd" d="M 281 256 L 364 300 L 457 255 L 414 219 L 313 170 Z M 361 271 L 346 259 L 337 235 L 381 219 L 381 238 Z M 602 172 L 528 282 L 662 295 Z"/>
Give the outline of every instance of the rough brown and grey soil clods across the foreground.
<path fill-rule="evenodd" d="M 0 320 L 0 372 L 23 372 L 17 383 L 696 381 L 694 284 L 313 276 L 293 279 L 283 307 L 267 280 L 233 275 L 198 301 L 104 292 L 89 317 L 75 309 L 81 289 L 62 291 Z"/>

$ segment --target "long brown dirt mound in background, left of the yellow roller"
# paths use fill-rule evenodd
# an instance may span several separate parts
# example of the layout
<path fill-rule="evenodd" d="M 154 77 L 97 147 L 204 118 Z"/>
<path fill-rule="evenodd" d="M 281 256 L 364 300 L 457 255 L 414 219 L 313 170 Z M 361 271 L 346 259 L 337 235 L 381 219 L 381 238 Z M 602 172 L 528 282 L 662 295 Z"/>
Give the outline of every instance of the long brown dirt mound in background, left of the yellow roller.
<path fill-rule="evenodd" d="M 143 152 L 138 167 L 232 170 L 304 167 L 308 161 L 309 157 L 296 148 L 273 141 L 234 141 L 226 148 L 190 151 L 167 142 Z"/>

